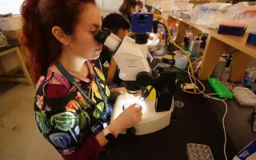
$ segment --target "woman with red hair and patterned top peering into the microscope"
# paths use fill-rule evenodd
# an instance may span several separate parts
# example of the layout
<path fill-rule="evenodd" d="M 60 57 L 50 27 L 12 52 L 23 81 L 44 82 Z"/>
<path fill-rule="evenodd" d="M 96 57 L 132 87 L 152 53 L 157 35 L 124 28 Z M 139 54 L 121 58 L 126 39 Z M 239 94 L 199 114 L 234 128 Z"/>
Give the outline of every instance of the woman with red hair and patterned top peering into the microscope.
<path fill-rule="evenodd" d="M 102 51 L 94 38 L 102 26 L 98 7 L 94 0 L 25 0 L 21 14 L 40 133 L 65 160 L 94 158 L 142 118 L 134 104 L 110 122 L 114 90 L 95 66 Z"/>

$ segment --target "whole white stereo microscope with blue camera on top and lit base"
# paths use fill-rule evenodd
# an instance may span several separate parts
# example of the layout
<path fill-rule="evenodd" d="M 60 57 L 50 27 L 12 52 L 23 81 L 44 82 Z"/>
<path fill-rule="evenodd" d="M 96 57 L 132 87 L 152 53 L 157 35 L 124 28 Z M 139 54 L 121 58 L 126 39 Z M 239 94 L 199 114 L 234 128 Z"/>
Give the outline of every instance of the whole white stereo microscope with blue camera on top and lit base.
<path fill-rule="evenodd" d="M 126 90 L 136 94 L 146 90 L 141 98 L 128 94 L 118 96 L 111 121 L 118 117 L 126 107 L 138 103 L 142 106 L 142 121 L 134 126 L 136 135 L 150 134 L 170 124 L 173 110 L 173 96 L 176 88 L 176 70 L 159 67 L 158 62 L 147 52 L 147 40 L 152 32 L 153 14 L 132 14 L 134 39 L 118 38 L 110 30 L 102 28 L 95 39 L 114 51 L 114 60 L 120 68 L 119 78 L 127 82 Z M 154 90 L 154 98 L 147 98 Z"/>

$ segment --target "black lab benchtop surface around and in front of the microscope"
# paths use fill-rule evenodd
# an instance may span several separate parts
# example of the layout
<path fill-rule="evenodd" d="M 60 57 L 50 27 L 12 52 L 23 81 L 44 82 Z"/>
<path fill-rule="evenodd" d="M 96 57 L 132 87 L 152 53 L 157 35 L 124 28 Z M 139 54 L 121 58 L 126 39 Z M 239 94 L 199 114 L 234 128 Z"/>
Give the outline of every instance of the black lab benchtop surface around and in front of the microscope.
<path fill-rule="evenodd" d="M 189 82 L 188 79 L 186 81 Z M 214 93 L 208 82 L 202 82 L 206 86 L 206 94 Z M 185 94 L 179 86 L 174 99 L 184 102 L 185 106 L 176 110 L 176 118 L 170 120 L 170 126 L 142 136 L 120 135 L 98 160 L 187 160 L 187 143 L 210 146 L 214 159 L 224 160 L 224 103 L 204 98 L 202 94 Z M 253 141 L 256 134 L 252 131 L 254 108 L 240 106 L 235 99 L 226 102 L 226 154 L 230 160 Z"/>

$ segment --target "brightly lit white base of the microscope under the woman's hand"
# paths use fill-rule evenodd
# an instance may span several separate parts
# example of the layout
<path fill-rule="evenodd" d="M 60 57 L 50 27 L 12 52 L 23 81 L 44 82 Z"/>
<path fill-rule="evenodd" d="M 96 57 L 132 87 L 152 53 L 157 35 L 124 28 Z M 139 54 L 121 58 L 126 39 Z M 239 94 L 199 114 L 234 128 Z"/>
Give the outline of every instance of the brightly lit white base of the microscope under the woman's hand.
<path fill-rule="evenodd" d="M 158 130 L 162 130 L 170 124 L 170 115 L 173 111 L 173 104 L 170 110 L 165 112 L 156 112 L 155 111 L 155 101 L 146 99 L 141 101 L 130 97 L 130 95 L 122 94 L 118 96 L 115 104 L 114 110 L 111 117 L 111 121 L 118 117 L 122 113 L 123 108 L 126 108 L 134 103 L 138 103 L 142 106 L 142 121 L 139 122 L 135 127 L 136 135 L 150 134 Z M 123 133 L 125 134 L 125 132 Z"/>

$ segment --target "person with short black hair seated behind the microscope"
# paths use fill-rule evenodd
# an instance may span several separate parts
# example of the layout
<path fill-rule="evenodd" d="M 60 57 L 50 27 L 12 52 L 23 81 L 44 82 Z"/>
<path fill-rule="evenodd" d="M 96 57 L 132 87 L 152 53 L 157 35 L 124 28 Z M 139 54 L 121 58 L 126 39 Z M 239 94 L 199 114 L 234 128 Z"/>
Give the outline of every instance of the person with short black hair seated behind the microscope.
<path fill-rule="evenodd" d="M 102 21 L 102 28 L 108 28 L 111 32 L 118 36 L 118 38 L 125 38 L 127 30 L 130 29 L 130 23 L 126 21 L 122 15 L 114 13 L 109 14 Z M 114 86 L 120 86 L 122 80 L 118 77 L 119 70 L 117 63 L 114 61 L 113 53 L 106 47 L 103 47 L 100 55 L 102 62 L 102 71 L 106 77 L 106 84 L 110 85 L 110 88 Z"/>

